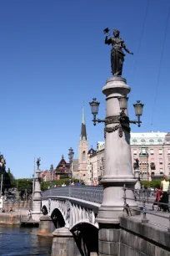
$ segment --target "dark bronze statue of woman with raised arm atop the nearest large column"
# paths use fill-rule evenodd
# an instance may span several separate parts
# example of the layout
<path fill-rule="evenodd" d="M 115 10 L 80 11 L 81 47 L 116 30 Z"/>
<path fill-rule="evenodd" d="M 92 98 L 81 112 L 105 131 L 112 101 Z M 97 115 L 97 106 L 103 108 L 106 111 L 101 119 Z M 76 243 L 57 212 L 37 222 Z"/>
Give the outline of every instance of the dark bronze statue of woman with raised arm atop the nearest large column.
<path fill-rule="evenodd" d="M 104 33 L 108 33 L 109 29 L 106 28 L 104 30 Z M 122 52 L 122 49 L 125 49 L 125 51 L 128 54 L 131 53 L 126 45 L 124 44 L 124 41 L 122 38 L 119 37 L 120 31 L 117 29 L 113 30 L 114 37 L 109 37 L 109 34 L 107 34 L 105 38 L 105 44 L 112 44 L 111 49 L 111 68 L 112 68 L 112 75 L 114 76 L 121 76 L 122 75 L 122 65 L 124 61 L 125 54 Z"/>

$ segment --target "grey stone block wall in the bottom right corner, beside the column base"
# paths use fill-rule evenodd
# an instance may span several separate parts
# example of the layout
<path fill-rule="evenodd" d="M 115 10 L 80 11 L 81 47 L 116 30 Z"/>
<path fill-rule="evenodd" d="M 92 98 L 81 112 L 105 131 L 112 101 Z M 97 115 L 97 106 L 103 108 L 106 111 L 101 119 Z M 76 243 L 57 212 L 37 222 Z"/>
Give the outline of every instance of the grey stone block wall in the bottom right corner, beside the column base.
<path fill-rule="evenodd" d="M 120 256 L 170 256 L 170 233 L 135 218 L 120 218 Z"/>

